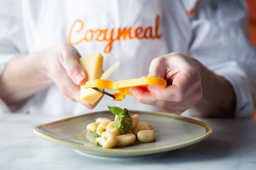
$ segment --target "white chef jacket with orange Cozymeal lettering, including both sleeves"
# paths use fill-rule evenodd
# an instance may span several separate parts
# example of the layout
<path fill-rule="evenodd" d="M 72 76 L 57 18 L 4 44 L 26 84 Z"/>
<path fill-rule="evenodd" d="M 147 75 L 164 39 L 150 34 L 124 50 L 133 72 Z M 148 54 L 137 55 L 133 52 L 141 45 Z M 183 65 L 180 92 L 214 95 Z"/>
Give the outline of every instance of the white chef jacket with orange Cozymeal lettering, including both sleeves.
<path fill-rule="evenodd" d="M 103 70 L 119 60 L 112 81 L 147 75 L 155 57 L 180 52 L 230 82 L 237 97 L 236 117 L 248 118 L 254 112 L 256 52 L 248 41 L 243 0 L 5 0 L 0 25 L 0 74 L 13 57 L 63 41 L 82 56 L 101 52 Z M 0 100 L 0 112 L 31 114 L 78 115 L 107 106 L 157 110 L 132 96 L 122 101 L 104 96 L 90 110 L 69 101 L 54 84 L 15 109 Z"/>

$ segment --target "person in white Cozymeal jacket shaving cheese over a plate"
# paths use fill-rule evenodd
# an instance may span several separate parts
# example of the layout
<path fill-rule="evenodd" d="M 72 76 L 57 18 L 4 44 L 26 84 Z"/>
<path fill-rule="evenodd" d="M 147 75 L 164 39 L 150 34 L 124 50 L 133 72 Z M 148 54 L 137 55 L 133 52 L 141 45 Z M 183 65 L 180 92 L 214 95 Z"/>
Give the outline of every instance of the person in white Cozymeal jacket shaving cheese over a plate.
<path fill-rule="evenodd" d="M 0 23 L 1 112 L 78 115 L 119 106 L 250 118 L 255 111 L 256 51 L 243 0 L 4 1 Z M 78 58 L 96 52 L 103 70 L 120 61 L 112 81 L 161 77 L 168 86 L 83 102 Z"/>

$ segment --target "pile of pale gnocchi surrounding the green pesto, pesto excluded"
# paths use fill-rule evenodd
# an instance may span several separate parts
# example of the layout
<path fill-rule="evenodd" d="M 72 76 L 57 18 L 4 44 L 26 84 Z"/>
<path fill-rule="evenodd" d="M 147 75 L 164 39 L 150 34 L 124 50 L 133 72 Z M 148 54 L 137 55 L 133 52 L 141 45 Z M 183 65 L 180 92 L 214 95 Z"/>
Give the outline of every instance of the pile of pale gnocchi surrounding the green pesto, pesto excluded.
<path fill-rule="evenodd" d="M 142 142 L 156 140 L 155 132 L 149 123 L 139 123 L 140 118 L 137 114 L 130 116 L 130 118 L 131 126 L 130 130 L 128 132 L 126 131 L 127 133 L 122 133 L 115 126 L 117 120 L 116 115 L 114 121 L 108 118 L 97 118 L 95 122 L 89 123 L 86 126 L 87 131 L 97 133 L 97 135 L 94 135 L 96 137 L 94 138 L 95 140 L 92 139 L 92 135 L 86 136 L 90 138 L 88 139 L 89 141 L 96 141 L 96 145 L 102 146 L 103 148 L 125 147 L 132 145 L 136 139 Z"/>

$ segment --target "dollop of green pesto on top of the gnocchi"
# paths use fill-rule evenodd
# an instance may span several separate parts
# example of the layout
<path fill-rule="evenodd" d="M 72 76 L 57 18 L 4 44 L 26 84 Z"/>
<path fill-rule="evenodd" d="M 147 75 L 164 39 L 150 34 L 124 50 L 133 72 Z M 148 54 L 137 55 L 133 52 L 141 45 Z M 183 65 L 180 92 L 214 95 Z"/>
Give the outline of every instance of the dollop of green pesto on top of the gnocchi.
<path fill-rule="evenodd" d="M 119 114 L 116 118 L 115 127 L 122 133 L 127 133 L 129 130 L 131 130 L 131 125 L 131 114 L 128 113 L 126 108 L 124 108 L 124 112 Z"/>

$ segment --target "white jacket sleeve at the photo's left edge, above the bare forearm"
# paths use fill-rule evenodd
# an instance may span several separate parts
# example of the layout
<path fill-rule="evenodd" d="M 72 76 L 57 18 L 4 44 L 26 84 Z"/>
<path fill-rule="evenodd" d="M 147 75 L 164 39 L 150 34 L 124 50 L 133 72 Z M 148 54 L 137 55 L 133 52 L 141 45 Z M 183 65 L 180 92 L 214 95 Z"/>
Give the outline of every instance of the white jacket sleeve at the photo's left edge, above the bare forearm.
<path fill-rule="evenodd" d="M 24 34 L 22 2 L 16 0 L 1 1 L 0 76 L 5 65 L 13 57 L 26 53 L 26 41 Z M 0 112 L 9 112 L 9 108 L 1 99 Z"/>

